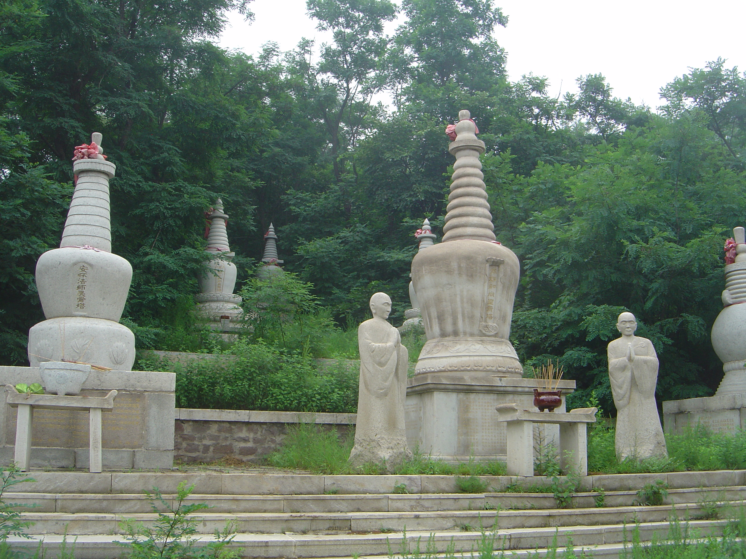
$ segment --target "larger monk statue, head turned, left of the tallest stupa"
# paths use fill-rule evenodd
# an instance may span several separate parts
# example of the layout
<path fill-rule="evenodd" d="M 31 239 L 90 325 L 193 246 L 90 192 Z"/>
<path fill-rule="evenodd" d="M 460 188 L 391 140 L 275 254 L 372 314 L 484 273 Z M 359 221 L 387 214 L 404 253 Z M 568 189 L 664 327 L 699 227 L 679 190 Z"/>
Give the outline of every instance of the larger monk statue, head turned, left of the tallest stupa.
<path fill-rule="evenodd" d="M 407 396 L 407 348 L 398 329 L 389 324 L 391 299 L 376 293 L 370 300 L 373 318 L 357 329 L 360 347 L 360 392 L 357 397 L 355 446 L 350 463 L 386 462 L 391 472 L 404 458 L 411 458 L 404 428 Z"/>

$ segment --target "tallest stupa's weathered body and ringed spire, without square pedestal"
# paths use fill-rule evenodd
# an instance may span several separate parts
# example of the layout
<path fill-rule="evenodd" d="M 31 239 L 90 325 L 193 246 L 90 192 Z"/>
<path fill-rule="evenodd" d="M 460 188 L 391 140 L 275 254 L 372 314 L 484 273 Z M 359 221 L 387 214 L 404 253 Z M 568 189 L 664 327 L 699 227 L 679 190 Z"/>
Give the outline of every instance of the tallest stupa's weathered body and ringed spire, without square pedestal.
<path fill-rule="evenodd" d="M 521 376 L 510 344 L 520 265 L 495 241 L 481 172 L 484 143 L 461 111 L 449 151 L 454 164 L 443 242 L 419 251 L 412 282 L 427 342 L 415 372 Z"/>

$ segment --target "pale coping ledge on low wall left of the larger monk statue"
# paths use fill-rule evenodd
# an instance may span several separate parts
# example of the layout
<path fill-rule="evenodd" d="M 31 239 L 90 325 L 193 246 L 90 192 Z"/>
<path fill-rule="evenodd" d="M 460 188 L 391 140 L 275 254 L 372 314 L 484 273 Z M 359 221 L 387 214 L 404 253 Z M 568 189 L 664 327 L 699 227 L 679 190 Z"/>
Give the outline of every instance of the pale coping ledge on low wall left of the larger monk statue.
<path fill-rule="evenodd" d="M 313 413 L 310 411 L 176 408 L 174 419 L 186 421 L 241 421 L 247 423 L 321 423 L 324 425 L 354 425 L 357 420 L 357 414 Z"/>

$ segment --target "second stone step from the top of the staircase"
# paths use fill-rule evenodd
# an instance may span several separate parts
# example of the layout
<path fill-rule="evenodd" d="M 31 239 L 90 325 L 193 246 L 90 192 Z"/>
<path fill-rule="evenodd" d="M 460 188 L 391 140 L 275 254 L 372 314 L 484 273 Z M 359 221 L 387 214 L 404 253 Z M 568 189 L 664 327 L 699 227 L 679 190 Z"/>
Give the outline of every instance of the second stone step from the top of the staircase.
<path fill-rule="evenodd" d="M 19 487 L 19 486 L 16 486 Z M 163 496 L 174 506 L 174 495 Z M 572 505 L 593 508 L 598 493 L 576 493 Z M 746 487 L 706 487 L 668 490 L 666 503 L 737 501 L 746 498 Z M 34 512 L 57 513 L 149 513 L 145 494 L 128 493 L 6 493 L 7 502 L 34 506 Z M 606 507 L 633 505 L 636 491 L 609 491 Z M 198 495 L 186 503 L 204 502 L 213 513 L 327 513 L 327 512 L 416 512 L 484 511 L 556 508 L 551 493 L 419 493 L 414 495 Z"/>

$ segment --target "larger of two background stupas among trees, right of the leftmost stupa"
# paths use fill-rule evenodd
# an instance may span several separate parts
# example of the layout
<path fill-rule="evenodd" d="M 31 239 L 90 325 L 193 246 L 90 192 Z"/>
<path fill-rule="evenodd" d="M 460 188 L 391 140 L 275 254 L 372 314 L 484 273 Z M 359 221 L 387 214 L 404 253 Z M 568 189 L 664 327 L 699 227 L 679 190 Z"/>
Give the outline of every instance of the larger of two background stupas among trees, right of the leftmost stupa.
<path fill-rule="evenodd" d="M 237 326 L 243 309 L 241 297 L 233 294 L 236 287 L 236 265 L 231 262 L 235 253 L 228 245 L 228 215 L 223 212 L 223 201 L 218 198 L 210 209 L 207 220 L 210 232 L 207 233 L 205 252 L 215 256 L 207 263 L 208 270 L 198 277 L 201 293 L 194 296 L 197 302 L 197 316 L 206 320 L 213 329 L 225 330 Z"/>

